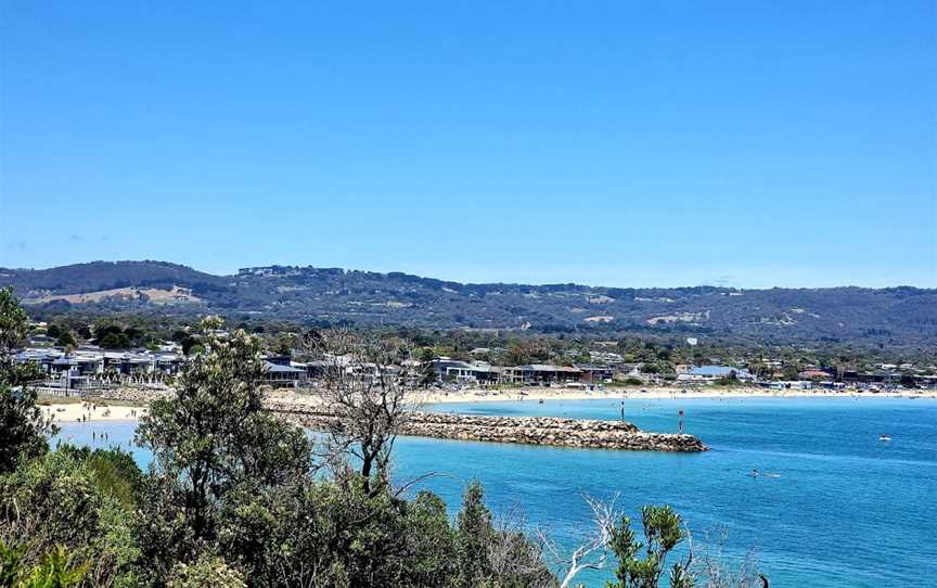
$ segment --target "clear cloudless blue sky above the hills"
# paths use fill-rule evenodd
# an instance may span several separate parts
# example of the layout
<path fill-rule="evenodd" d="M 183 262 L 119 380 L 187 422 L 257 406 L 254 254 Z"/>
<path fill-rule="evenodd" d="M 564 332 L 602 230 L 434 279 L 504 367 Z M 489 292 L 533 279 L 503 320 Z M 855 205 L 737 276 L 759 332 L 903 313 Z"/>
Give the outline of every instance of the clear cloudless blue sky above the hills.
<path fill-rule="evenodd" d="M 935 7 L 0 0 L 0 266 L 937 286 Z"/>

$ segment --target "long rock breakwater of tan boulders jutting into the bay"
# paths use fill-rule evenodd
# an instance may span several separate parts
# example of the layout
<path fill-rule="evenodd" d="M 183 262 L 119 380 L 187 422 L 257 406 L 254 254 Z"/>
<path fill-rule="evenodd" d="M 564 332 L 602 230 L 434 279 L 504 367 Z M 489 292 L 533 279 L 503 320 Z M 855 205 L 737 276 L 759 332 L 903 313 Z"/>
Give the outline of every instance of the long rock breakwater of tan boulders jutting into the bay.
<path fill-rule="evenodd" d="M 328 411 L 292 402 L 271 401 L 267 408 L 304 426 L 325 430 L 336 417 Z M 589 449 L 639 451 L 705 451 L 693 435 L 645 433 L 619 421 L 559 419 L 549 417 L 478 417 L 441 412 L 411 412 L 402 434 L 439 439 L 552 445 Z"/>

